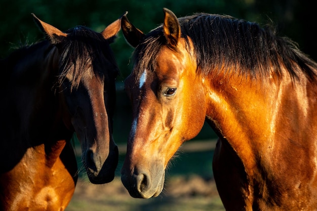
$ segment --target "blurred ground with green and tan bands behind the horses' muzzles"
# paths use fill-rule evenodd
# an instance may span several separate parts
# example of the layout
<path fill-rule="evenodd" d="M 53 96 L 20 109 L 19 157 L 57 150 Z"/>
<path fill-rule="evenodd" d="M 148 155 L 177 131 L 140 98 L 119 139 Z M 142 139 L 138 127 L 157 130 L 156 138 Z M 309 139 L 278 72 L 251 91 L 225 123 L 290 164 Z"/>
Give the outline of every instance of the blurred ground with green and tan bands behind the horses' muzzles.
<path fill-rule="evenodd" d="M 82 168 L 66 211 L 223 211 L 212 173 L 215 146 L 216 140 L 184 143 L 169 164 L 163 192 L 155 198 L 138 199 L 132 198 L 121 182 L 120 169 L 126 145 L 118 145 L 120 156 L 114 180 L 93 185 L 85 179 Z M 80 148 L 76 151 L 80 156 Z"/>

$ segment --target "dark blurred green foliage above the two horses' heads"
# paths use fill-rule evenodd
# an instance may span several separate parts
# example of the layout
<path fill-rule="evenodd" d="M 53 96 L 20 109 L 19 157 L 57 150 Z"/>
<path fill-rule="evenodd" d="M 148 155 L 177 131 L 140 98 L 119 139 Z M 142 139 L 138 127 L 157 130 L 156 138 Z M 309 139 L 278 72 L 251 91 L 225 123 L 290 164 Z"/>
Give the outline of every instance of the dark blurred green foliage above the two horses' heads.
<path fill-rule="evenodd" d="M 143 32 L 163 21 L 162 8 L 172 10 L 177 17 L 196 12 L 227 14 L 236 18 L 265 24 L 268 19 L 279 26 L 282 35 L 291 37 L 300 48 L 317 59 L 317 41 L 312 33 L 317 24 L 311 1 L 308 0 L 0 0 L 0 57 L 6 57 L 20 45 L 44 38 L 34 24 L 31 13 L 64 31 L 85 25 L 102 31 L 108 24 L 128 11 L 129 20 Z M 123 81 L 131 70 L 133 49 L 126 44 L 122 33 L 111 45 L 121 69 L 118 81 Z"/>

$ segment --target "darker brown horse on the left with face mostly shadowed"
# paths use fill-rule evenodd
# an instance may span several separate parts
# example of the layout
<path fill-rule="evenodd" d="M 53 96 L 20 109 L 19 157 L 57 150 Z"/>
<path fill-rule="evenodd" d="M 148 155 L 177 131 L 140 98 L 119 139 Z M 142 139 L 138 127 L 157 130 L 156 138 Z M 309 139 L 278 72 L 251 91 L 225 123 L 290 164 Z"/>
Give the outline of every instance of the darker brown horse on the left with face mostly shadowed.
<path fill-rule="evenodd" d="M 101 33 L 66 32 L 33 15 L 48 40 L 1 61 L 0 210 L 64 210 L 77 181 L 75 132 L 90 181 L 114 178 L 115 77 L 109 47 L 121 18 Z"/>

